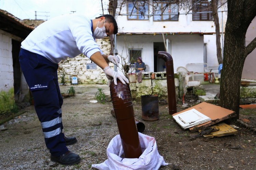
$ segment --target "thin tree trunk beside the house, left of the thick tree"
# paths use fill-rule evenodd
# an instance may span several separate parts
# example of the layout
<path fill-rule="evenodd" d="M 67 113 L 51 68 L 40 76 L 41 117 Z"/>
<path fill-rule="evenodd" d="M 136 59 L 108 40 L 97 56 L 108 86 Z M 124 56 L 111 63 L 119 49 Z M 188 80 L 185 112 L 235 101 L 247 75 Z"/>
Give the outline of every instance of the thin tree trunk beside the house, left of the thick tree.
<path fill-rule="evenodd" d="M 223 61 L 222 61 L 222 55 L 221 55 L 221 34 L 219 32 L 219 16 L 217 13 L 216 0 L 212 0 L 211 6 L 212 6 L 212 15 L 215 23 L 217 58 L 218 58 L 218 63 L 222 64 Z"/>

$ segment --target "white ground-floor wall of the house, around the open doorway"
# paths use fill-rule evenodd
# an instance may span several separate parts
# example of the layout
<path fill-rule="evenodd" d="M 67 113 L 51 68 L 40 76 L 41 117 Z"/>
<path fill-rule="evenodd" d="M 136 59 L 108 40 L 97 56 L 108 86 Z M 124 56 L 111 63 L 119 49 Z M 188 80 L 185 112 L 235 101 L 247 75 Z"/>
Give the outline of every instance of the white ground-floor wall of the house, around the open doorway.
<path fill-rule="evenodd" d="M 193 35 L 165 35 L 171 40 L 171 55 L 173 57 L 174 71 L 177 67 L 186 67 L 188 63 L 203 63 L 203 36 Z M 118 35 L 116 36 L 118 53 L 127 56 L 128 48 L 142 48 L 142 61 L 154 71 L 154 42 L 163 42 L 162 35 Z"/>

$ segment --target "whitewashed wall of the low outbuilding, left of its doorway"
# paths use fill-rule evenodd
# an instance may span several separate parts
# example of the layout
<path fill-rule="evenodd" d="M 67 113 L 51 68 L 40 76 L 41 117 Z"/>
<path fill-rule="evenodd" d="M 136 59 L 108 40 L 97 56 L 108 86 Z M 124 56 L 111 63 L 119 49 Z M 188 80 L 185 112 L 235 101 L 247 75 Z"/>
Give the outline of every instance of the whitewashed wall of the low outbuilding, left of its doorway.
<path fill-rule="evenodd" d="M 12 38 L 0 32 L 0 91 L 13 88 Z"/>

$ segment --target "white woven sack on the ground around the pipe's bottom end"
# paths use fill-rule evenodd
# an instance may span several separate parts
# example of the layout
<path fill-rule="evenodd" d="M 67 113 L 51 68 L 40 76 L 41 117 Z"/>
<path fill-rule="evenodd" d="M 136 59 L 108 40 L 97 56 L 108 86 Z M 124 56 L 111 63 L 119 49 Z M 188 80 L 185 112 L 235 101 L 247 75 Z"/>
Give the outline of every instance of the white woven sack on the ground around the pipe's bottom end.
<path fill-rule="evenodd" d="M 139 133 L 139 140 L 143 152 L 139 158 L 122 158 L 124 150 L 121 138 L 120 135 L 116 135 L 107 148 L 108 159 L 101 164 L 91 166 L 100 170 L 157 170 L 160 166 L 168 165 L 159 155 L 154 137 Z"/>

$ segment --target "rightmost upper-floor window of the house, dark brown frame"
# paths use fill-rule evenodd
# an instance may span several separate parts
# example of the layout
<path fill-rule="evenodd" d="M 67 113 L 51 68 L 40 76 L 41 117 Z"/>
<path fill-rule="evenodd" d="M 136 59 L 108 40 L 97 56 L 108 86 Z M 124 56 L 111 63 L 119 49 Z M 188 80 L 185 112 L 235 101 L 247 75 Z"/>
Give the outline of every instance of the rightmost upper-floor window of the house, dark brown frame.
<path fill-rule="evenodd" d="M 193 0 L 193 13 L 195 12 L 211 12 L 211 6 L 208 0 Z M 193 21 L 209 21 L 213 20 L 212 13 L 192 14 Z"/>

